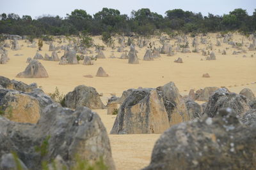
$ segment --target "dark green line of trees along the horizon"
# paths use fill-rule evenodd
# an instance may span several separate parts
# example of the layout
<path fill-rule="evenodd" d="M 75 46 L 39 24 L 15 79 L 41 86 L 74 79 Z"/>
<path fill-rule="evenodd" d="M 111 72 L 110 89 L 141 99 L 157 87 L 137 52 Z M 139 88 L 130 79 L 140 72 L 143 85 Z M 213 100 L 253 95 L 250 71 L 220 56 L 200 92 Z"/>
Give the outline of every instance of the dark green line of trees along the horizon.
<path fill-rule="evenodd" d="M 65 18 L 60 16 L 42 16 L 32 19 L 29 15 L 20 17 L 15 13 L 2 13 L 0 16 L 0 34 L 18 34 L 29 36 L 42 35 L 78 35 L 87 32 L 91 35 L 108 34 L 131 35 L 131 32 L 147 36 L 156 32 L 172 34 L 173 31 L 206 33 L 217 31 L 241 31 L 245 34 L 253 33 L 256 29 L 256 9 L 253 15 L 248 15 L 241 8 L 230 11 L 227 15 L 203 16 L 181 9 L 168 10 L 165 16 L 141 8 L 132 11 L 131 17 L 120 14 L 111 8 L 102 8 L 93 16 L 85 10 L 74 10 Z"/>

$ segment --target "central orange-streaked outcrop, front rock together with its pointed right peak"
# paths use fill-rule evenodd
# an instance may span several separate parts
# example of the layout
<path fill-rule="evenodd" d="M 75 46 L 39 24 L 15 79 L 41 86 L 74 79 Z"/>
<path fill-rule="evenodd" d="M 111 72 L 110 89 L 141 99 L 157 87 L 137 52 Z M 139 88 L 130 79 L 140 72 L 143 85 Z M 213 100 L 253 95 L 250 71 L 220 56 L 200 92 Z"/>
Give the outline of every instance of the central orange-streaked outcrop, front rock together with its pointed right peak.
<path fill-rule="evenodd" d="M 118 110 L 111 134 L 162 133 L 166 127 L 189 120 L 184 100 L 173 82 L 157 89 L 130 91 Z"/>

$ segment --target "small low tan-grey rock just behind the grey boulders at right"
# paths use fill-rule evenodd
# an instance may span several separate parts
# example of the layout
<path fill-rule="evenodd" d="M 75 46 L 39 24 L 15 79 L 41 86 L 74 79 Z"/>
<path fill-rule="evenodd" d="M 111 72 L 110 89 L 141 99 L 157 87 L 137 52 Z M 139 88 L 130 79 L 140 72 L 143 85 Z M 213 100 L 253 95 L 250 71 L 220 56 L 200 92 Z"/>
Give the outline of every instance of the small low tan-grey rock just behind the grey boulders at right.
<path fill-rule="evenodd" d="M 218 87 L 205 87 L 203 90 L 196 90 L 196 101 L 208 101 L 209 97 L 218 89 Z"/>

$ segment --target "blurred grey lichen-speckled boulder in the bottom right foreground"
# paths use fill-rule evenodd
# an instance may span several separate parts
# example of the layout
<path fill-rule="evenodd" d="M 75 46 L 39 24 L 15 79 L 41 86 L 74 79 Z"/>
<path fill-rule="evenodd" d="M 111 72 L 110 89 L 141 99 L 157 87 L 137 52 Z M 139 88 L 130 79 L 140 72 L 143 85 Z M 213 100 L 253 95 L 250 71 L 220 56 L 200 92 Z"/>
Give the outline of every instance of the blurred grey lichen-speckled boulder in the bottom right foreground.
<path fill-rule="evenodd" d="M 254 169 L 256 127 L 244 127 L 230 109 L 175 125 L 157 140 L 149 166 L 153 169 Z"/>

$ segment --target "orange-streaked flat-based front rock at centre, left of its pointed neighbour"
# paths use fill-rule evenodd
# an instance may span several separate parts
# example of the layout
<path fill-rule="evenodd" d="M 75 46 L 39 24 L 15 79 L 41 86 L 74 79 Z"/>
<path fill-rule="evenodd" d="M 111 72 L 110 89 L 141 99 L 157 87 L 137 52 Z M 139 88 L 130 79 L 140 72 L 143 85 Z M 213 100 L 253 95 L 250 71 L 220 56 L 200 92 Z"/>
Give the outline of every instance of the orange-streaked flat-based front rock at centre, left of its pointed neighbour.
<path fill-rule="evenodd" d="M 169 126 L 163 99 L 157 94 L 157 90 L 138 89 L 120 106 L 110 133 L 162 133 Z"/>

